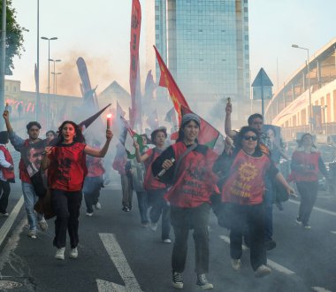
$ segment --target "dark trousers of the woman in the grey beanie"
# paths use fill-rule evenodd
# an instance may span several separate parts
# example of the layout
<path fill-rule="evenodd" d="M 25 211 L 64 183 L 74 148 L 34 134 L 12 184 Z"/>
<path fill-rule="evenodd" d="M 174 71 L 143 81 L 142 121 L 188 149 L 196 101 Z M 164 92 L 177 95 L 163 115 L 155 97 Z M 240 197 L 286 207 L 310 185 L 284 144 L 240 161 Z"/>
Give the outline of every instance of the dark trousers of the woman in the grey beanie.
<path fill-rule="evenodd" d="M 210 204 L 203 203 L 195 208 L 171 206 L 172 227 L 175 242 L 172 248 L 172 272 L 182 273 L 187 259 L 187 237 L 194 228 L 195 272 L 209 272 L 209 214 Z"/>

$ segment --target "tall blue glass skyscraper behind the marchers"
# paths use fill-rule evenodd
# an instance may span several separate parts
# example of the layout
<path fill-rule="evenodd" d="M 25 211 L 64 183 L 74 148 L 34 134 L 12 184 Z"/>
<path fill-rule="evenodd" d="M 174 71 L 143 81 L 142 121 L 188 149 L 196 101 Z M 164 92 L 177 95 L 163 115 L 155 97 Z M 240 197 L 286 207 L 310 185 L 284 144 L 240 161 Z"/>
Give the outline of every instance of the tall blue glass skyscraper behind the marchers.
<path fill-rule="evenodd" d="M 153 44 L 195 111 L 227 96 L 248 104 L 248 0 L 148 0 L 147 66 L 158 81 Z"/>

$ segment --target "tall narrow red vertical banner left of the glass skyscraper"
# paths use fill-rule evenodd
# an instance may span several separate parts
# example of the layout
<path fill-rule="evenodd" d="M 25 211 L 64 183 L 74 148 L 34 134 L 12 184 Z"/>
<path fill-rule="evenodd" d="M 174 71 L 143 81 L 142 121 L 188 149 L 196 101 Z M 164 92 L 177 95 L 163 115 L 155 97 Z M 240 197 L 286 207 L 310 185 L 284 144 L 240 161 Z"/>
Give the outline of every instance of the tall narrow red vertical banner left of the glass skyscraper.
<path fill-rule="evenodd" d="M 131 126 L 141 119 L 141 96 L 140 91 L 140 70 L 139 70 L 139 42 L 141 31 L 141 5 L 139 0 L 132 1 L 132 18 L 131 18 L 131 42 L 130 42 L 130 70 L 129 85 L 131 88 L 132 98 L 132 115 Z M 132 118 L 131 118 L 132 117 Z M 139 118 L 140 117 L 140 118 Z"/>

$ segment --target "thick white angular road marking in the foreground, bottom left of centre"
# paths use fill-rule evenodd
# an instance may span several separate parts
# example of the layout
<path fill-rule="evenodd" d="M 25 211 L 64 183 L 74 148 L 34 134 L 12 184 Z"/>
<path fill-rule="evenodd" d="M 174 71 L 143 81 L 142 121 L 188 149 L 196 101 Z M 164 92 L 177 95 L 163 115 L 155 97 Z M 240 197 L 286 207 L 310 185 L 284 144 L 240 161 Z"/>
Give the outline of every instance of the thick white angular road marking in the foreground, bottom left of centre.
<path fill-rule="evenodd" d="M 96 280 L 99 292 L 133 292 L 141 291 L 140 285 L 134 277 L 131 267 L 128 265 L 126 257 L 121 250 L 116 236 L 114 234 L 99 234 L 103 246 L 111 257 L 113 264 L 116 266 L 121 279 L 124 280 L 125 286 L 121 286 L 105 280 Z"/>

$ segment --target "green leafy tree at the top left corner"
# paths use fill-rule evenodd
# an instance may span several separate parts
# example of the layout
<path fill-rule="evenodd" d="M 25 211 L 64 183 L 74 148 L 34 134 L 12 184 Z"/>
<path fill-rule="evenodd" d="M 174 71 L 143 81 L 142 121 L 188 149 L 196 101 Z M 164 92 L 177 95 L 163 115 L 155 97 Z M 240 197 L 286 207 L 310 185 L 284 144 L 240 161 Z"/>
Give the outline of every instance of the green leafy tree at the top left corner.
<path fill-rule="evenodd" d="M 0 16 L 3 14 L 3 0 L 0 0 Z M 0 17 L 1 19 L 1 17 Z M 2 29 L 2 21 L 0 20 L 0 28 Z M 21 57 L 25 48 L 23 46 L 23 32 L 28 31 L 25 27 L 21 27 L 16 19 L 16 11 L 11 6 L 11 0 L 7 0 L 6 9 L 6 75 L 11 75 L 14 69 L 13 58 Z"/>

